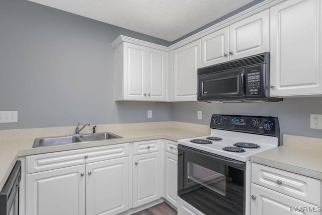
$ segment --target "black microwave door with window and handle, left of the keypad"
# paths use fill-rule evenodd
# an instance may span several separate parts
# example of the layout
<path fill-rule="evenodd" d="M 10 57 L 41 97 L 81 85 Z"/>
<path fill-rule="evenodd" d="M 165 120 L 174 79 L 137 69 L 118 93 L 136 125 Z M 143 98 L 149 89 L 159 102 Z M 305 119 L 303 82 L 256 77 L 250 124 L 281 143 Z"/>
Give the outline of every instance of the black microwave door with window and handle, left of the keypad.
<path fill-rule="evenodd" d="M 198 76 L 198 101 L 246 100 L 245 68 Z"/>

